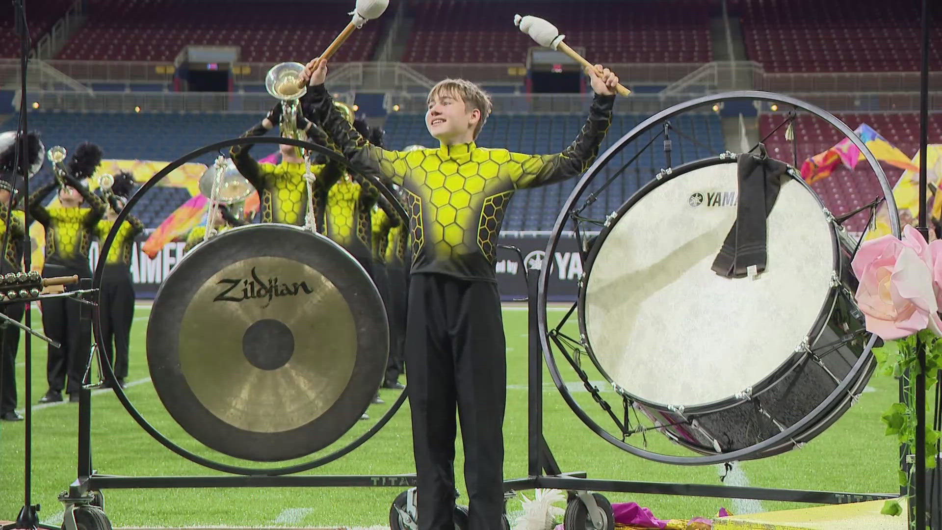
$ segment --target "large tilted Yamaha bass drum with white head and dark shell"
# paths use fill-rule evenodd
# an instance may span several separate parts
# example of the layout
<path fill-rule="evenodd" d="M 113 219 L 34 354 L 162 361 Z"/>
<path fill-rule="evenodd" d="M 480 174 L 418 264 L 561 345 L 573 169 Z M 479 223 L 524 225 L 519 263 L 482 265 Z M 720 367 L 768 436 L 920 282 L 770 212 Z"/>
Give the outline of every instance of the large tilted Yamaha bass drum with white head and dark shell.
<path fill-rule="evenodd" d="M 749 448 L 814 416 L 760 458 L 836 422 L 873 364 L 834 391 L 869 340 L 853 300 L 853 240 L 793 169 L 768 217 L 767 270 L 711 270 L 737 219 L 736 161 L 658 174 L 609 219 L 586 261 L 579 325 L 612 386 L 694 452 Z"/>

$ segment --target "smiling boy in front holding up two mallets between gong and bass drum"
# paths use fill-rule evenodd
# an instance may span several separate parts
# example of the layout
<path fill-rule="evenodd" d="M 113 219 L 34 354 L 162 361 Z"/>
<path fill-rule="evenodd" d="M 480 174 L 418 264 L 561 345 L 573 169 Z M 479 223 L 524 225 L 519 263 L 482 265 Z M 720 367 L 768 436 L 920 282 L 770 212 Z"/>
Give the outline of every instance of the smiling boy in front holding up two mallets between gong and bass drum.
<path fill-rule="evenodd" d="M 315 69 L 317 66 L 317 69 Z M 414 257 L 406 364 L 412 408 L 419 530 L 454 524 L 455 407 L 462 425 L 468 527 L 500 528 L 504 505 L 506 342 L 495 282 L 495 250 L 514 191 L 582 174 L 611 123 L 618 78 L 591 76 L 595 97 L 577 139 L 557 155 L 524 155 L 475 144 L 491 111 L 484 91 L 446 79 L 429 92 L 426 126 L 437 149 L 371 145 L 333 108 L 327 61 L 308 63 L 309 115 L 358 171 L 406 190 Z"/>

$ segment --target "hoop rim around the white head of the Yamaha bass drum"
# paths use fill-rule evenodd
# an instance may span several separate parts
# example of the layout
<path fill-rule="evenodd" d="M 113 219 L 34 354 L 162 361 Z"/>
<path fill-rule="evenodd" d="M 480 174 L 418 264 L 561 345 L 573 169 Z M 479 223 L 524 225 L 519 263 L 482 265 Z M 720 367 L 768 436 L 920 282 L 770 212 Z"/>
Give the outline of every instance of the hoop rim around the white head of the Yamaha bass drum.
<path fill-rule="evenodd" d="M 589 290 L 589 281 L 592 277 L 593 265 L 595 263 L 595 258 L 598 257 L 599 250 L 604 246 L 605 241 L 607 240 L 609 234 L 614 229 L 614 227 L 621 221 L 625 216 L 625 212 L 637 205 L 643 197 L 648 195 L 653 190 L 658 189 L 661 185 L 667 183 L 668 181 L 673 180 L 675 177 L 678 177 L 683 174 L 689 174 L 692 171 L 699 169 L 711 167 L 719 164 L 730 164 L 737 163 L 739 155 L 730 153 L 729 151 L 723 153 L 722 155 L 716 157 L 706 157 L 700 158 L 698 160 L 693 160 L 680 164 L 671 169 L 670 172 L 662 170 L 657 176 L 650 181 L 648 181 L 644 186 L 639 190 L 631 194 L 630 197 L 618 207 L 615 212 L 609 216 L 606 220 L 605 226 L 600 231 L 598 237 L 593 242 L 593 246 L 589 249 L 589 254 L 585 258 L 585 263 L 583 265 L 583 276 L 582 281 L 578 283 L 578 293 L 577 293 L 577 313 L 578 313 L 578 323 L 579 323 L 579 333 L 583 340 L 583 346 L 586 349 L 586 353 L 589 358 L 592 359 L 593 365 L 602 374 L 603 377 L 609 382 L 613 389 L 619 394 L 627 397 L 630 400 L 637 401 L 644 406 L 651 406 L 658 408 L 660 410 L 678 413 L 681 414 L 704 414 L 709 412 L 718 412 L 733 406 L 739 406 L 749 398 L 738 398 L 736 395 L 728 396 L 721 400 L 701 403 L 696 405 L 685 405 L 685 404 L 661 404 L 657 402 L 652 402 L 647 399 L 642 399 L 641 397 L 633 394 L 627 389 L 621 387 L 617 382 L 613 381 L 609 373 L 602 367 L 601 362 L 599 362 L 598 357 L 595 356 L 593 347 L 592 347 L 592 338 L 590 337 L 589 330 L 587 329 L 586 323 L 586 293 Z M 794 172 L 794 168 L 788 165 L 788 176 L 793 180 L 800 182 L 805 190 L 807 190 L 811 196 L 814 198 L 815 202 L 822 209 L 825 216 L 825 219 L 828 223 L 828 233 L 831 239 L 831 250 L 832 250 L 832 272 L 837 273 L 838 277 L 843 270 L 844 263 L 840 258 L 840 247 L 838 244 L 836 226 L 833 221 L 833 217 L 830 216 L 827 208 L 824 207 L 824 204 L 820 200 L 820 196 L 810 186 L 807 185 L 804 180 Z M 814 342 L 820 336 L 820 333 L 823 332 L 824 327 L 830 321 L 831 315 L 834 313 L 834 304 L 836 301 L 836 288 L 834 286 L 828 290 L 827 295 L 821 303 L 821 307 L 818 311 L 818 316 L 815 318 L 814 324 L 808 330 L 808 333 L 805 335 L 808 339 L 808 343 L 813 345 Z M 801 344 L 796 344 L 796 349 L 788 356 L 781 364 L 779 364 L 771 373 L 767 374 L 765 377 L 755 382 L 750 389 L 753 391 L 749 394 L 750 396 L 758 396 L 765 392 L 768 389 L 774 387 L 775 383 L 779 381 L 782 377 L 787 375 L 789 372 L 794 370 L 797 367 L 798 360 L 805 356 L 806 352 L 799 349 Z M 745 389 L 743 389 L 745 390 Z M 682 406 L 682 408 L 678 407 Z"/>

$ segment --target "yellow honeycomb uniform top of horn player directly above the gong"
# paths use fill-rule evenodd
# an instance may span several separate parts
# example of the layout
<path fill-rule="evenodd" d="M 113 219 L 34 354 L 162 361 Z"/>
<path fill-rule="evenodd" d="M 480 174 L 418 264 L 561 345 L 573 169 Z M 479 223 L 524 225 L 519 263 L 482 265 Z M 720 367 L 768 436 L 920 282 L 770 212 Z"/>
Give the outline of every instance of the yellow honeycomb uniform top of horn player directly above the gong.
<path fill-rule="evenodd" d="M 261 136 L 267 132 L 262 124 L 257 124 L 246 131 L 241 138 Z M 308 131 L 310 141 L 327 145 L 323 132 L 317 132 L 316 127 Z M 303 162 L 258 163 L 249 156 L 252 144 L 234 145 L 229 150 L 235 168 L 258 190 L 258 199 L 262 210 L 262 223 L 284 223 L 301 226 L 307 216 L 307 184 L 304 181 L 305 164 Z M 311 174 L 315 175 L 312 183 L 314 196 L 328 190 L 337 179 L 341 171 L 335 162 L 327 164 L 312 164 Z M 315 201 L 314 214 L 317 231 L 323 232 L 323 214 L 321 201 Z"/>

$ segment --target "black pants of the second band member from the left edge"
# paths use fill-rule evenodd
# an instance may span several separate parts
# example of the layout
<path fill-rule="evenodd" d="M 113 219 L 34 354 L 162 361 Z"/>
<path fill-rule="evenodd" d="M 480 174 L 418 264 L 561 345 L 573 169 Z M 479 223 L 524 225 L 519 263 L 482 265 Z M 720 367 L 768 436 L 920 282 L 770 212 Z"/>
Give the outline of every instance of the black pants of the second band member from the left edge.
<path fill-rule="evenodd" d="M 91 273 L 75 270 L 72 267 L 47 264 L 42 268 L 43 276 L 66 276 L 78 274 L 80 278 L 89 278 Z M 73 284 L 66 290 L 76 290 Z M 49 389 L 68 393 L 77 392 L 82 387 L 85 368 L 91 354 L 91 319 L 90 315 L 82 318 L 82 304 L 69 298 L 50 298 L 42 301 L 42 328 L 46 337 L 62 344 L 57 348 L 48 346 L 46 359 L 46 380 Z M 66 376 L 68 375 L 68 381 Z"/>

